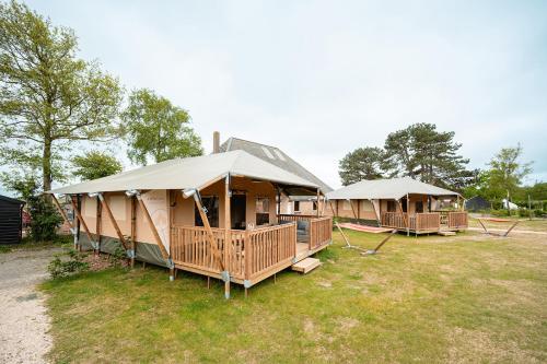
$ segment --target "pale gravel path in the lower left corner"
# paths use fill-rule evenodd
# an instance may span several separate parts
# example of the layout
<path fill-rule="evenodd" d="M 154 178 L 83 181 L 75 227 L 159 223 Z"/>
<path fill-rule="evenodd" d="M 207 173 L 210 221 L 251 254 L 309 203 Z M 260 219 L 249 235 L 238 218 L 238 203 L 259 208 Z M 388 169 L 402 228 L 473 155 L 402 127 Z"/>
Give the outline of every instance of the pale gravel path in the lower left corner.
<path fill-rule="evenodd" d="M 49 317 L 36 283 L 60 248 L 0 254 L 0 363 L 45 363 Z"/>

